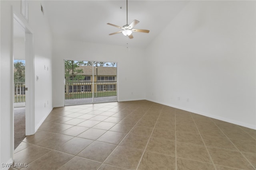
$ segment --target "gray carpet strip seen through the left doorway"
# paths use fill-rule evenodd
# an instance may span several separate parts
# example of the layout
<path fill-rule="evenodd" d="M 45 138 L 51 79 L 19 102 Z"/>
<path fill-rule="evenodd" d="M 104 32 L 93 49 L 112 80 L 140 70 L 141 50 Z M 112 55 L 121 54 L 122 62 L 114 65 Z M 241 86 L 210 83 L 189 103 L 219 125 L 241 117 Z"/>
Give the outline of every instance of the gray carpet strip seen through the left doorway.
<path fill-rule="evenodd" d="M 14 149 L 26 137 L 25 132 L 25 107 L 14 108 Z"/>

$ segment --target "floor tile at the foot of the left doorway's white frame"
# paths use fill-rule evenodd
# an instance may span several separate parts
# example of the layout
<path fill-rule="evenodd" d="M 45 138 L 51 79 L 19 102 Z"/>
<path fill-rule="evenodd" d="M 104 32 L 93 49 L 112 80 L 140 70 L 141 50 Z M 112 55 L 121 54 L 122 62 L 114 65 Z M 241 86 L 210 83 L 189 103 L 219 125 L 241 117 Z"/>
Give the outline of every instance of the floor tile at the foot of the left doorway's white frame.
<path fill-rule="evenodd" d="M 44 139 L 47 139 L 54 135 L 55 133 L 47 132 L 47 131 L 40 131 L 38 130 L 34 135 L 28 135 L 23 140 L 24 142 L 36 144 L 38 142 L 43 141 Z"/>

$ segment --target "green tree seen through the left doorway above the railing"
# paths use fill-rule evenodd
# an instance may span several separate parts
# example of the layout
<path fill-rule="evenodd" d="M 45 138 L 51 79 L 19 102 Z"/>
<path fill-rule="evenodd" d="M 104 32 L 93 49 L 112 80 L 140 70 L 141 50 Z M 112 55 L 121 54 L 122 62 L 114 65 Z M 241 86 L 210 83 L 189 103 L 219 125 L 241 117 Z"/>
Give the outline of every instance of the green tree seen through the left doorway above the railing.
<path fill-rule="evenodd" d="M 22 61 L 14 62 L 14 83 L 25 82 L 25 63 Z"/>

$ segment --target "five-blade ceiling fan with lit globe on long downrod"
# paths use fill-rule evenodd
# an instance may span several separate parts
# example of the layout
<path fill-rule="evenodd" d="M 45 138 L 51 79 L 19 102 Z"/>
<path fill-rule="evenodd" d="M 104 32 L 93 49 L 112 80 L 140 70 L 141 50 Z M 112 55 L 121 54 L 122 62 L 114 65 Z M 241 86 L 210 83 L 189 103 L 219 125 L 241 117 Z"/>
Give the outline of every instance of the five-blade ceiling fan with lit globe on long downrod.
<path fill-rule="evenodd" d="M 114 25 L 112 23 L 107 23 L 108 25 L 112 25 L 114 27 L 118 27 L 120 29 L 123 29 L 122 31 L 117 31 L 114 33 L 111 33 L 109 35 L 114 35 L 117 33 L 123 33 L 125 36 L 129 36 L 130 39 L 133 38 L 132 32 L 142 32 L 142 33 L 149 33 L 149 30 L 146 29 L 132 29 L 135 25 L 137 25 L 140 21 L 138 20 L 133 20 L 130 25 L 128 25 L 128 0 L 126 0 L 126 25 L 120 27 L 118 25 Z"/>

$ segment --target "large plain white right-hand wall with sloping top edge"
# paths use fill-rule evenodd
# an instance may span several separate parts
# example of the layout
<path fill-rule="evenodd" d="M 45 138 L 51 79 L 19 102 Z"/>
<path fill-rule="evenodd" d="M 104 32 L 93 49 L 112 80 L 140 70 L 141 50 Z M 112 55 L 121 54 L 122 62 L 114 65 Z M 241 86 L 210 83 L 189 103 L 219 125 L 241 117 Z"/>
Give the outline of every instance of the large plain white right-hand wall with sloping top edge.
<path fill-rule="evenodd" d="M 256 129 L 255 10 L 190 1 L 146 49 L 146 98 Z"/>

